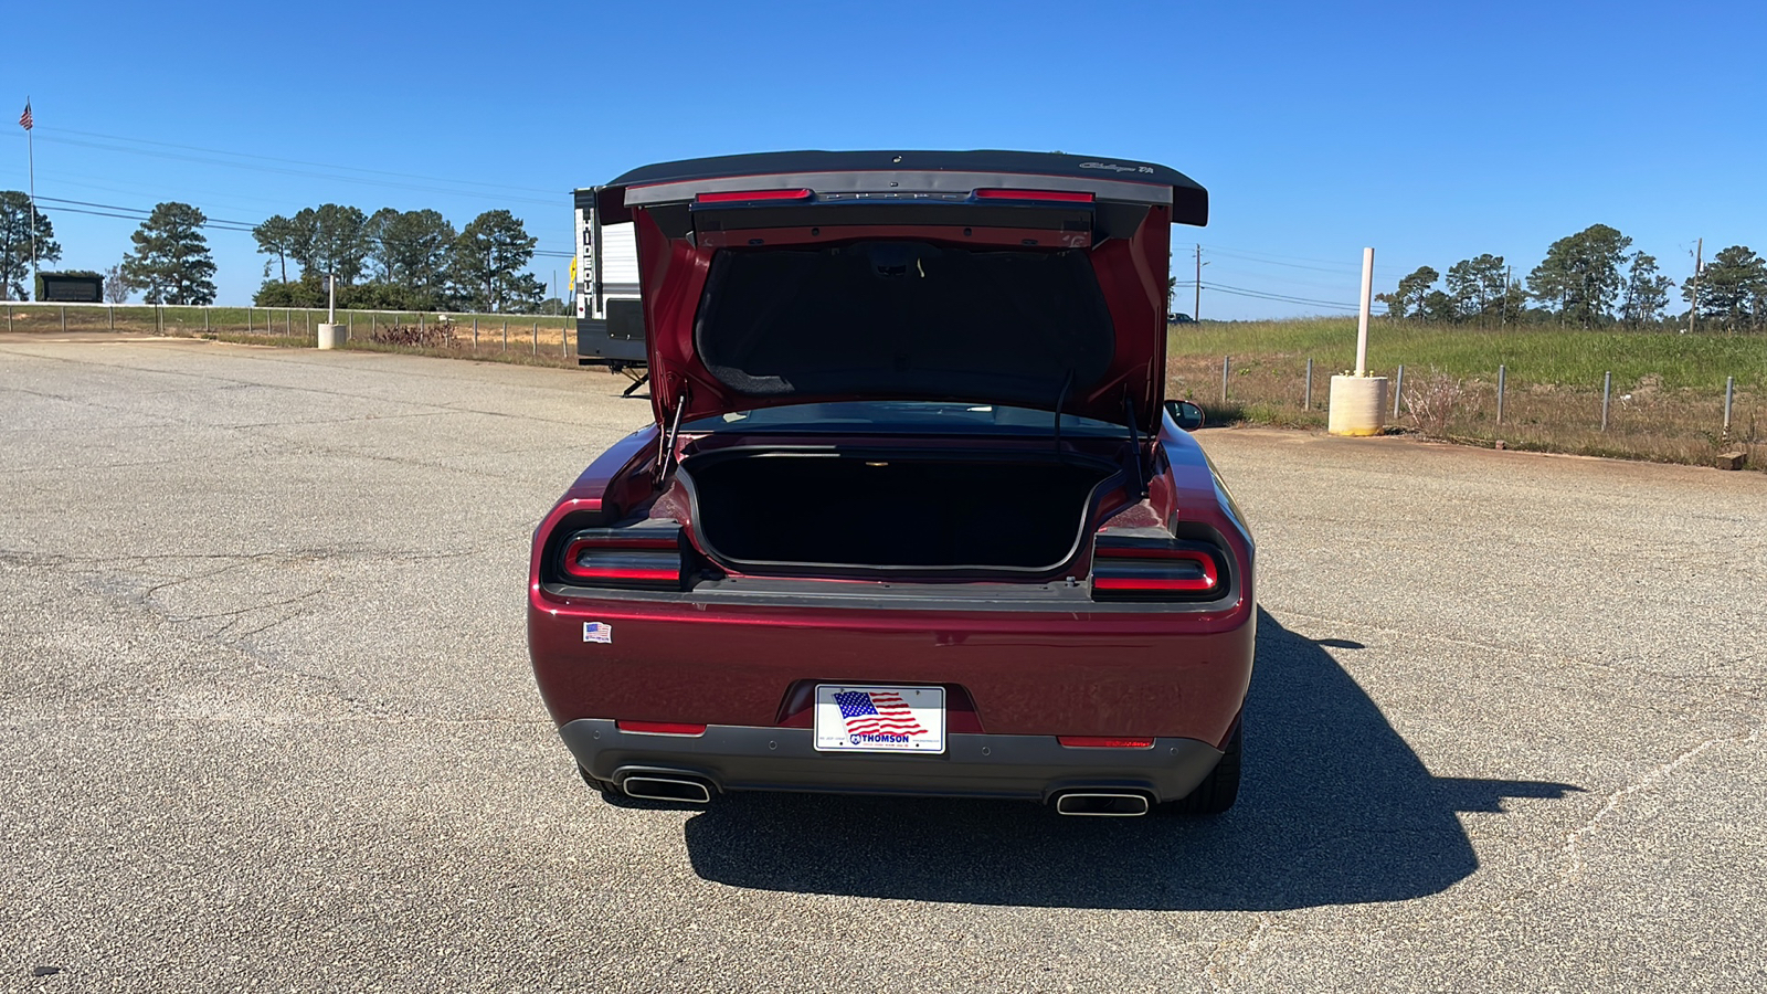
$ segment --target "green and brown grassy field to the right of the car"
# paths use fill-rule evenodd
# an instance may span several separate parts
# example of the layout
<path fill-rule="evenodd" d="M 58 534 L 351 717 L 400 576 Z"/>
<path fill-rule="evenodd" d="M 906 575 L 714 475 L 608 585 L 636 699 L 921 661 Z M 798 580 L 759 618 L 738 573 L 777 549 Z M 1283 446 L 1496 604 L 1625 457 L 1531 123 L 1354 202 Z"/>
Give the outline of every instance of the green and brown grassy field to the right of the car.
<path fill-rule="evenodd" d="M 1394 378 L 1405 366 L 1392 419 L 1399 428 L 1516 449 L 1686 463 L 1742 449 L 1751 467 L 1767 469 L 1767 336 L 1375 320 L 1368 340 L 1371 373 Z M 1168 341 L 1168 396 L 1196 400 L 1216 423 L 1323 428 L 1331 375 L 1355 364 L 1354 318 L 1184 324 L 1170 329 Z M 1505 368 L 1502 423 L 1498 366 Z M 1606 373 L 1613 389 L 1603 428 Z M 1725 377 L 1735 378 L 1728 432 Z M 1426 423 L 1421 410 L 1431 407 L 1440 416 Z"/>

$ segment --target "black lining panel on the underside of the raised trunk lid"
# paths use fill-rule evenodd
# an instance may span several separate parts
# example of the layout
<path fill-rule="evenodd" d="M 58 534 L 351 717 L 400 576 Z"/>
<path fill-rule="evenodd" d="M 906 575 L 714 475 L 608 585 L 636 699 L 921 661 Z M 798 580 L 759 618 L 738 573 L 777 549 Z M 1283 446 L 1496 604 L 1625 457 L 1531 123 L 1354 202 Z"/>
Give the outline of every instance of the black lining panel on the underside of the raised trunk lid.
<path fill-rule="evenodd" d="M 1053 407 L 1104 375 L 1115 329 L 1083 249 L 868 241 L 719 251 L 694 347 L 749 396 Z"/>

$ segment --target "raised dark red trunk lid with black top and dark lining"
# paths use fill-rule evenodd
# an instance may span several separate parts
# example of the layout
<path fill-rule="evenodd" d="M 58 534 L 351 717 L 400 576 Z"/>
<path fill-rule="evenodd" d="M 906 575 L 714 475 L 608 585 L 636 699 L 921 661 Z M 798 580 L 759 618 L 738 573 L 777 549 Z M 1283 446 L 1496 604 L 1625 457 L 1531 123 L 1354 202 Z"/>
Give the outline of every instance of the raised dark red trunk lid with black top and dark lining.
<path fill-rule="evenodd" d="M 1034 152 L 772 152 L 597 189 L 633 219 L 657 423 L 785 403 L 998 403 L 1159 426 L 1166 166 Z"/>

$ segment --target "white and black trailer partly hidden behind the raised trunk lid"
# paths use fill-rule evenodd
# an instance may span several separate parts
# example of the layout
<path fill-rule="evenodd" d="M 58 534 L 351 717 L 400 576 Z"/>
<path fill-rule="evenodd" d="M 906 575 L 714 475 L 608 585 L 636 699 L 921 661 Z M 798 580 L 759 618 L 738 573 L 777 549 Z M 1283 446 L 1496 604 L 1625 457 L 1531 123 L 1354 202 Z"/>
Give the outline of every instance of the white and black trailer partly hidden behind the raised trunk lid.
<path fill-rule="evenodd" d="M 620 371 L 645 364 L 638 241 L 631 221 L 601 223 L 599 191 L 576 191 L 576 361 Z"/>

